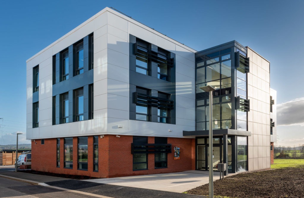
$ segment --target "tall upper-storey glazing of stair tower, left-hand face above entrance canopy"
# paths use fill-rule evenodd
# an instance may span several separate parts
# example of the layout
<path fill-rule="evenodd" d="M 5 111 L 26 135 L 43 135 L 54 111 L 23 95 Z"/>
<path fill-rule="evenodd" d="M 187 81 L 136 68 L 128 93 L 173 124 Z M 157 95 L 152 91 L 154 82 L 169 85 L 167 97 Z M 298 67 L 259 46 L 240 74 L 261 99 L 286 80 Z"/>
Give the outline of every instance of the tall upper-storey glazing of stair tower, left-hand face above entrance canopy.
<path fill-rule="evenodd" d="M 196 58 L 196 93 L 211 85 L 212 128 L 231 129 L 231 48 Z M 209 130 L 209 94 L 197 95 L 196 130 Z"/>

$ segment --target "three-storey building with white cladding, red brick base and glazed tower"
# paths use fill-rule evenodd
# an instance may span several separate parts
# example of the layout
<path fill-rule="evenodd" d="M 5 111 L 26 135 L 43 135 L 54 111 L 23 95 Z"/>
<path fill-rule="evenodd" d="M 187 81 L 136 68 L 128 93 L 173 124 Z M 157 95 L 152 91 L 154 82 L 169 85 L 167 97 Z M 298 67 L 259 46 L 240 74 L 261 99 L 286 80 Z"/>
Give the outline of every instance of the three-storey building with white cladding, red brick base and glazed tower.
<path fill-rule="evenodd" d="M 236 41 L 196 51 L 105 8 L 27 60 L 32 169 L 94 177 L 208 170 L 205 85 L 216 89 L 212 168 L 270 168 L 269 68 Z"/>

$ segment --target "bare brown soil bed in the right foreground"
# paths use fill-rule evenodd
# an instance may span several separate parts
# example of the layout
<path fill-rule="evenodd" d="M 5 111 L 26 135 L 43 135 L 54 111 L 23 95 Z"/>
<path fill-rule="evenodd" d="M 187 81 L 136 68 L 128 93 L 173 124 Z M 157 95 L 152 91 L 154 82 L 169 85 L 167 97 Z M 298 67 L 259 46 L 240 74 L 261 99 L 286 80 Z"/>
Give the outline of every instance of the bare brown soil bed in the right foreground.
<path fill-rule="evenodd" d="M 214 182 L 213 192 L 217 197 L 304 197 L 304 165 L 228 176 Z M 208 196 L 209 185 L 187 193 Z"/>

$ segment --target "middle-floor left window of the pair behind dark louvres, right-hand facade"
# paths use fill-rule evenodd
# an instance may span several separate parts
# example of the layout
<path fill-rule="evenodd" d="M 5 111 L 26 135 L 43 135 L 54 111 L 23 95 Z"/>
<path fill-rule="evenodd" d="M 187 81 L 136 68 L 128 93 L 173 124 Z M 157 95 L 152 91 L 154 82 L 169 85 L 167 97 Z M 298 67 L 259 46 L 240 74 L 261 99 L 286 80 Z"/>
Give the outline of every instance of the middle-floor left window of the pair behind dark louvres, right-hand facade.
<path fill-rule="evenodd" d="M 150 95 L 150 90 L 136 87 L 136 92 L 142 95 Z M 150 106 L 145 98 L 137 99 L 136 103 L 136 120 L 149 121 Z"/>

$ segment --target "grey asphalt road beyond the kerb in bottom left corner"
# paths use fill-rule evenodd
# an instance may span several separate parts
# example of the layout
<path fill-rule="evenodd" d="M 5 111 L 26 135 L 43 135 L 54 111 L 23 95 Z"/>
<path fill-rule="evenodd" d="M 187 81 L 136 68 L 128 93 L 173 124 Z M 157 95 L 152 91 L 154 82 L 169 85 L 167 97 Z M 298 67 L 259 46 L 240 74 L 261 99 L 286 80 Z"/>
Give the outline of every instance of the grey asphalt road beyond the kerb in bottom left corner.
<path fill-rule="evenodd" d="M 0 197 L 94 197 L 0 177 Z"/>

